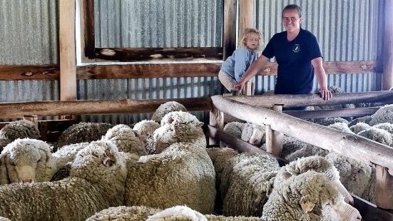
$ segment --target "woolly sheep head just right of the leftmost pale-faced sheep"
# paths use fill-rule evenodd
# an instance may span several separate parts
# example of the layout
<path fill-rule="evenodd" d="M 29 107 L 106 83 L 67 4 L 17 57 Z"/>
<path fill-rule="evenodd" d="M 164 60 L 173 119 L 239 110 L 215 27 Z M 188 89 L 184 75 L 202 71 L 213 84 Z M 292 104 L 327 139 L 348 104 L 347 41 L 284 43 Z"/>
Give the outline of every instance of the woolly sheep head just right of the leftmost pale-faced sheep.
<path fill-rule="evenodd" d="M 71 177 L 88 180 L 91 183 L 126 181 L 126 163 L 118 148 L 111 142 L 95 141 L 76 155 L 71 166 Z"/>

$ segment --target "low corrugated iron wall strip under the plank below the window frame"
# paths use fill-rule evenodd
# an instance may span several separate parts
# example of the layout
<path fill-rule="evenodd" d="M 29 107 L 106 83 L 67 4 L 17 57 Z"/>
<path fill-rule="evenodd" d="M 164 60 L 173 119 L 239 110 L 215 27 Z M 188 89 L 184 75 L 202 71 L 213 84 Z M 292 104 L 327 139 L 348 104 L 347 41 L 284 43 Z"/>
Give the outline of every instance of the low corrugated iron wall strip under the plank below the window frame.
<path fill-rule="evenodd" d="M 223 86 L 216 77 L 202 78 L 131 78 L 110 80 L 79 80 L 79 100 L 201 98 L 221 94 Z M 199 120 L 208 120 L 208 113 L 192 112 Z M 78 120 L 107 123 L 137 123 L 150 119 L 150 113 L 81 115 Z"/>

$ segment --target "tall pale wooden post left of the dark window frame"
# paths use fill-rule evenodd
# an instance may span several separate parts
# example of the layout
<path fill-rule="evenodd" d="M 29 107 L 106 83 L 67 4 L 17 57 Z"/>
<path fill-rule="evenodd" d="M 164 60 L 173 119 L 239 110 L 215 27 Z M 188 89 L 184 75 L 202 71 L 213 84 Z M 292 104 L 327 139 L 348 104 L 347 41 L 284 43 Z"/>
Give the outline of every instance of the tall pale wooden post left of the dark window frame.
<path fill-rule="evenodd" d="M 75 1 L 60 0 L 60 100 L 76 100 Z"/>

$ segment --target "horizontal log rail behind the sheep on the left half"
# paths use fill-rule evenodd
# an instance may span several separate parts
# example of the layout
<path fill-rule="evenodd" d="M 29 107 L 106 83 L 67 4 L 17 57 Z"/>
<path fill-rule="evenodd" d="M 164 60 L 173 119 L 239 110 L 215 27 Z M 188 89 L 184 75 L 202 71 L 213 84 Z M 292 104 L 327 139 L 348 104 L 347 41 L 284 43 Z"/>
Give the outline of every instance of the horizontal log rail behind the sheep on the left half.
<path fill-rule="evenodd" d="M 103 101 L 38 101 L 0 103 L 0 118 L 20 118 L 24 115 L 78 115 L 111 113 L 153 113 L 168 101 L 182 103 L 188 111 L 210 111 L 210 98 L 180 98 L 159 100 L 103 100 Z"/>

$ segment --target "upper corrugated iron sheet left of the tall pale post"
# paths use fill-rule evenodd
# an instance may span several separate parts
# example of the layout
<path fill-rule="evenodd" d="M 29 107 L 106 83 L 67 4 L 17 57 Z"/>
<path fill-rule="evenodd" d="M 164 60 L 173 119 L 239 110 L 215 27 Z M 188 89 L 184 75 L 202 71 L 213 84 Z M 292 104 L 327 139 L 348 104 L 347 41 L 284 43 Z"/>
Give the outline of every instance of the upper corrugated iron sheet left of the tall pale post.
<path fill-rule="evenodd" d="M 58 63 L 58 1 L 0 0 L 0 20 L 0 65 Z"/>

